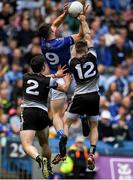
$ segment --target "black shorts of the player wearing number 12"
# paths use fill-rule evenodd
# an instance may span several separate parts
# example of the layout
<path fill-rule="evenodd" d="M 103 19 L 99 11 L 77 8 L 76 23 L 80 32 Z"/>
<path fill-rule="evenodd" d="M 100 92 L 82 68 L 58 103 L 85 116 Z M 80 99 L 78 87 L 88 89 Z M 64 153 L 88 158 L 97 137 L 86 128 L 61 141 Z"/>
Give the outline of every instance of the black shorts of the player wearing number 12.
<path fill-rule="evenodd" d="M 68 112 L 87 116 L 99 115 L 100 96 L 98 92 L 75 95 L 68 107 Z"/>

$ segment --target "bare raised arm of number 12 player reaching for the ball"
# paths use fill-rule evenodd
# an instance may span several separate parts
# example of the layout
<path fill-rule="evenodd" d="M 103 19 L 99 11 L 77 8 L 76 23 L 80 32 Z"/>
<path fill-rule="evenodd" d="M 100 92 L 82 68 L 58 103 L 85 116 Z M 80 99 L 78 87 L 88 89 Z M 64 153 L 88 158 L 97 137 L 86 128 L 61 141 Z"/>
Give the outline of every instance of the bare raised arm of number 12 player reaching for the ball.
<path fill-rule="evenodd" d="M 80 19 L 81 26 L 83 29 L 84 38 L 87 42 L 87 46 L 88 46 L 88 48 L 93 47 L 92 33 L 91 33 L 91 30 L 90 30 L 88 23 L 86 21 L 86 17 L 84 15 L 80 15 L 79 19 Z"/>

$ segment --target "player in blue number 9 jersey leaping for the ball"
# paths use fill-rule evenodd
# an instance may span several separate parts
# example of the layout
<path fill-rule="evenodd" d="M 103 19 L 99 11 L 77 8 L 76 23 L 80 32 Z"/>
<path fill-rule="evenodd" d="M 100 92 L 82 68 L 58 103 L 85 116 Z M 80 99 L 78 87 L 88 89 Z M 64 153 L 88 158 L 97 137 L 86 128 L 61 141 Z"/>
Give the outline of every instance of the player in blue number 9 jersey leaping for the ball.
<path fill-rule="evenodd" d="M 46 59 L 46 62 L 49 66 L 50 73 L 55 73 L 59 65 L 63 66 L 65 64 L 68 64 L 68 61 L 70 59 L 71 46 L 75 42 L 82 39 L 83 33 L 81 28 L 78 34 L 74 34 L 62 38 L 56 37 L 56 30 L 64 21 L 67 14 L 68 14 L 68 5 L 65 5 L 64 13 L 60 15 L 53 22 L 52 25 L 43 23 L 39 27 L 39 34 L 41 37 L 41 49 Z M 61 84 L 64 83 L 62 78 L 58 79 L 57 81 L 58 83 Z M 50 107 L 53 115 L 53 125 L 57 130 L 58 137 L 61 138 L 64 134 L 63 112 L 64 112 L 64 104 L 66 101 L 66 94 L 52 89 L 50 100 L 51 100 Z"/>

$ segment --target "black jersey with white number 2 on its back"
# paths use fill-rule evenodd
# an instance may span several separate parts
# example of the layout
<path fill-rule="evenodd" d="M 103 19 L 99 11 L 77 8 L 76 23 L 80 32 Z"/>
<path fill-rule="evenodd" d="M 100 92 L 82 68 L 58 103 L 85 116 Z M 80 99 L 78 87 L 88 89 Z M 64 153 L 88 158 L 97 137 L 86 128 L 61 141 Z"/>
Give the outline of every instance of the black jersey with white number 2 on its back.
<path fill-rule="evenodd" d="M 50 88 L 57 88 L 56 80 L 42 74 L 26 73 L 23 77 L 24 101 L 47 104 Z"/>

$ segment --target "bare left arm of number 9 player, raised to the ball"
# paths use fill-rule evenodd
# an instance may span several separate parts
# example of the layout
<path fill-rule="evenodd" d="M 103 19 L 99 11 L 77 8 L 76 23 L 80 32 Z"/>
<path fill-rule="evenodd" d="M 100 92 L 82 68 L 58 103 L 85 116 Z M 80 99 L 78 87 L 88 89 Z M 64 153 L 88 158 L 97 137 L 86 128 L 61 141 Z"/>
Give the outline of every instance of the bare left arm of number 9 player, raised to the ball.
<path fill-rule="evenodd" d="M 68 14 L 68 8 L 69 8 L 69 4 L 65 4 L 64 5 L 64 12 L 63 14 L 61 14 L 52 24 L 51 28 L 52 30 L 55 32 L 56 29 L 63 23 L 65 17 Z"/>

